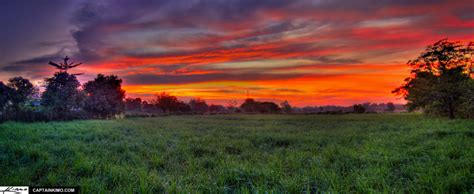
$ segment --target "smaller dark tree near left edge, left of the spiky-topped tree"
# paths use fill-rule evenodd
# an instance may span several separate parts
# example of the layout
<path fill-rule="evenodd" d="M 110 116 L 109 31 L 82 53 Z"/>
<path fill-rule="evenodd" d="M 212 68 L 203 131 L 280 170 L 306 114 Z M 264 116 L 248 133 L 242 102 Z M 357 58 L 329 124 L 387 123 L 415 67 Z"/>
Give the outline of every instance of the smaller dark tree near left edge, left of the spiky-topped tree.
<path fill-rule="evenodd" d="M 35 88 L 28 79 L 23 77 L 14 77 L 8 81 L 8 87 L 11 88 L 10 101 L 16 114 L 20 111 L 20 106 L 23 105 L 34 93 Z"/>

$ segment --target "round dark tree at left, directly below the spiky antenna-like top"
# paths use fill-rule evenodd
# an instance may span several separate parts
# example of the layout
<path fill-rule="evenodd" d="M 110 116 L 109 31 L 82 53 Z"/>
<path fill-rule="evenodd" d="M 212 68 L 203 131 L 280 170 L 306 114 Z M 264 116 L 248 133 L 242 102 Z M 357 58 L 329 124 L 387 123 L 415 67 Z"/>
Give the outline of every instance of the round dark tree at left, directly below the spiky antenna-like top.
<path fill-rule="evenodd" d="M 79 109 L 84 100 L 76 76 L 57 72 L 45 81 L 46 90 L 41 96 L 41 104 L 47 109 L 50 119 L 71 119 L 72 111 Z"/>

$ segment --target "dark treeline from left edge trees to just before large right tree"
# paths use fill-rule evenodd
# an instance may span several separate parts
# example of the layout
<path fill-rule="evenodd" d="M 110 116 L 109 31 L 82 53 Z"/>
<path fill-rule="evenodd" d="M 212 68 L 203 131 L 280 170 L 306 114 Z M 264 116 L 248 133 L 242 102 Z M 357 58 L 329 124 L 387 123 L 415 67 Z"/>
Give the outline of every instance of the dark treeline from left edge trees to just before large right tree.
<path fill-rule="evenodd" d="M 1 121 L 50 121 L 167 114 L 332 114 L 394 112 L 403 109 L 403 106 L 393 103 L 295 108 L 288 101 L 276 104 L 251 98 L 240 105 L 235 102 L 228 106 L 208 105 L 200 98 L 183 102 L 165 92 L 144 101 L 140 98 L 125 98 L 121 84 L 122 80 L 115 75 L 99 74 L 81 86 L 75 74 L 59 71 L 45 79 L 44 92 L 40 93 L 28 79 L 14 77 L 6 84 L 0 82 L 0 118 Z"/>

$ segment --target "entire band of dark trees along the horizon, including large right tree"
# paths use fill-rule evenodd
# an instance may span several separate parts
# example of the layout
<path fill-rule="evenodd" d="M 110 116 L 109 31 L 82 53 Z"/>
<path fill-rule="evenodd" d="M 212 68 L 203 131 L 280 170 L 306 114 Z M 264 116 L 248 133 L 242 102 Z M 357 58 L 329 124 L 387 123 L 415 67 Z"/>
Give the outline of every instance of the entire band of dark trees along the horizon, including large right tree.
<path fill-rule="evenodd" d="M 410 111 L 449 118 L 474 118 L 473 43 L 464 46 L 446 39 L 428 46 L 425 52 L 408 64 L 411 77 L 394 93 L 404 97 Z M 45 79 L 44 92 L 39 93 L 29 80 L 14 77 L 7 84 L 0 82 L 1 121 L 49 121 L 88 118 L 117 118 L 169 114 L 343 114 L 402 112 L 406 108 L 391 102 L 385 104 L 354 104 L 353 106 L 293 107 L 288 101 L 257 101 L 252 98 L 238 105 L 208 105 L 200 98 L 183 102 L 169 93 L 156 94 L 152 100 L 125 98 L 122 80 L 115 75 L 97 75 L 81 85 L 68 71 L 82 63 L 69 63 L 69 58 L 57 64 L 53 77 Z"/>

